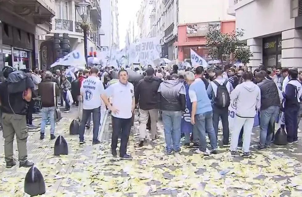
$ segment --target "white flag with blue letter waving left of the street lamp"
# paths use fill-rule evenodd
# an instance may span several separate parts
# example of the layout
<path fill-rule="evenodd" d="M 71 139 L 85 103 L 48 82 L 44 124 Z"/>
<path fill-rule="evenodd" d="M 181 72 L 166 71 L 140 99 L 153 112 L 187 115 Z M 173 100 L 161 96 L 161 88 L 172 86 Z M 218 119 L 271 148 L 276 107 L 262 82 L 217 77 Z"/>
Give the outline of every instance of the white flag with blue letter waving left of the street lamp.
<path fill-rule="evenodd" d="M 84 67 L 86 64 L 85 56 L 78 50 L 71 51 L 63 58 L 59 58 L 55 63 L 51 64 L 51 68 L 57 65 L 62 66 L 80 66 Z"/>

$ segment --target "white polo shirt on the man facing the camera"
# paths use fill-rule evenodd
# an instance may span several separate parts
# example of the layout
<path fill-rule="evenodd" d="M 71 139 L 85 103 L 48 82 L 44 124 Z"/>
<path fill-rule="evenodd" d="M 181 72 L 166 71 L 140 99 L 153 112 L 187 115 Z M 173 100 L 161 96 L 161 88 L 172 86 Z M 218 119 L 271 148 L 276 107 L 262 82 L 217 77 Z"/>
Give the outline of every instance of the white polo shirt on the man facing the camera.
<path fill-rule="evenodd" d="M 107 97 L 112 97 L 112 107 L 119 110 L 117 114 L 112 112 L 116 118 L 129 119 L 132 117 L 132 98 L 134 97 L 134 86 L 128 82 L 126 85 L 120 81 L 110 85 L 106 90 Z"/>

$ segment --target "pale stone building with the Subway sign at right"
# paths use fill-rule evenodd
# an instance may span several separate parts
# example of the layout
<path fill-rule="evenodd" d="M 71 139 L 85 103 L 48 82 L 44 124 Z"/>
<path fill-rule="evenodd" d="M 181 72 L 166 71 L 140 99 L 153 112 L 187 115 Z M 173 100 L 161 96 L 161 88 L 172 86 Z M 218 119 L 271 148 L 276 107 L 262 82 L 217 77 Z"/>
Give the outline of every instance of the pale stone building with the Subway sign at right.
<path fill-rule="evenodd" d="M 301 0 L 229 2 L 228 14 L 236 17 L 236 28 L 245 30 L 242 40 L 254 54 L 249 66 L 263 63 L 302 69 Z"/>

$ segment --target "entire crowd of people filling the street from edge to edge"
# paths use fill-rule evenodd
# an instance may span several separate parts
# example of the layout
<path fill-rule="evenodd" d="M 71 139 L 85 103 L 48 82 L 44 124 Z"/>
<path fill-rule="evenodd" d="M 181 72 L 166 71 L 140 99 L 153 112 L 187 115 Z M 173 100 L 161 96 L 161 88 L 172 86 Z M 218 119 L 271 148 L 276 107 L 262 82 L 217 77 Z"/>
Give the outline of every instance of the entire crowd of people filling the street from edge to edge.
<path fill-rule="evenodd" d="M 65 111 L 71 105 L 83 104 L 79 141 L 84 144 L 85 128 L 93 122 L 92 144 L 99 144 L 101 107 L 106 106 L 112 115 L 112 155 L 117 157 L 117 142 L 120 137 L 121 159 L 132 159 L 127 154 L 127 143 L 133 126 L 134 110 L 139 108 L 139 142 L 142 147 L 147 140 L 158 139 L 157 120 L 162 117 L 166 154 L 181 150 L 184 146 L 196 148 L 196 152 L 217 154 L 219 145 L 230 146 L 232 156 L 238 156 L 237 148 L 242 147 L 243 157 L 250 157 L 251 133 L 255 115 L 259 116 L 258 150 L 270 147 L 274 138 L 275 119 L 280 115 L 285 123 L 281 127 L 287 132 L 287 142 L 297 142 L 298 124 L 302 106 L 302 71 L 292 68 L 266 68 L 263 65 L 252 73 L 247 66 L 215 66 L 179 68 L 147 66 L 135 69 L 142 79 L 129 80 L 130 68 L 109 70 L 97 67 L 78 70 L 75 78 L 66 76 L 65 70 L 39 71 L 22 70 L 26 76 L 22 91 L 11 92 L 12 67 L 6 66 L 0 83 L 1 124 L 5 139 L 6 167 L 16 165 L 13 159 L 13 139 L 16 134 L 19 166 L 31 167 L 27 160 L 27 127 L 35 128 L 32 114 L 41 111 L 40 139 L 45 137 L 45 126 L 50 123 L 50 139 L 55 139 L 57 106 L 65 103 Z M 117 73 L 114 79 L 113 71 Z M 72 98 L 71 98 L 72 97 Z M 39 98 L 39 99 L 37 99 Z M 71 102 L 71 100 L 73 102 Z M 64 102 L 63 102 L 64 101 Z M 37 106 L 36 103 L 39 103 Z M 229 106 L 236 108 L 234 128 L 230 139 Z M 92 116 L 91 116 L 92 115 Z M 282 115 L 284 118 L 282 118 Z M 222 142 L 218 140 L 218 123 L 222 122 Z M 206 142 L 210 139 L 210 149 Z"/>

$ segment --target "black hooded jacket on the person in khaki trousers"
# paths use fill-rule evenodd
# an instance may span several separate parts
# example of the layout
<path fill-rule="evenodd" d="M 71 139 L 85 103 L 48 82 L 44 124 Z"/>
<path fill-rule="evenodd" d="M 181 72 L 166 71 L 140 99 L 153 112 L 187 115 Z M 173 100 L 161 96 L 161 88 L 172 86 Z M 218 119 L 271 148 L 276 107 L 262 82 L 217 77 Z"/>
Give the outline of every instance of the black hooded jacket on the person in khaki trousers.
<path fill-rule="evenodd" d="M 137 86 L 135 93 L 135 101 L 139 103 L 140 109 L 151 110 L 158 108 L 158 87 L 161 79 L 153 76 L 145 76 L 141 79 Z"/>

